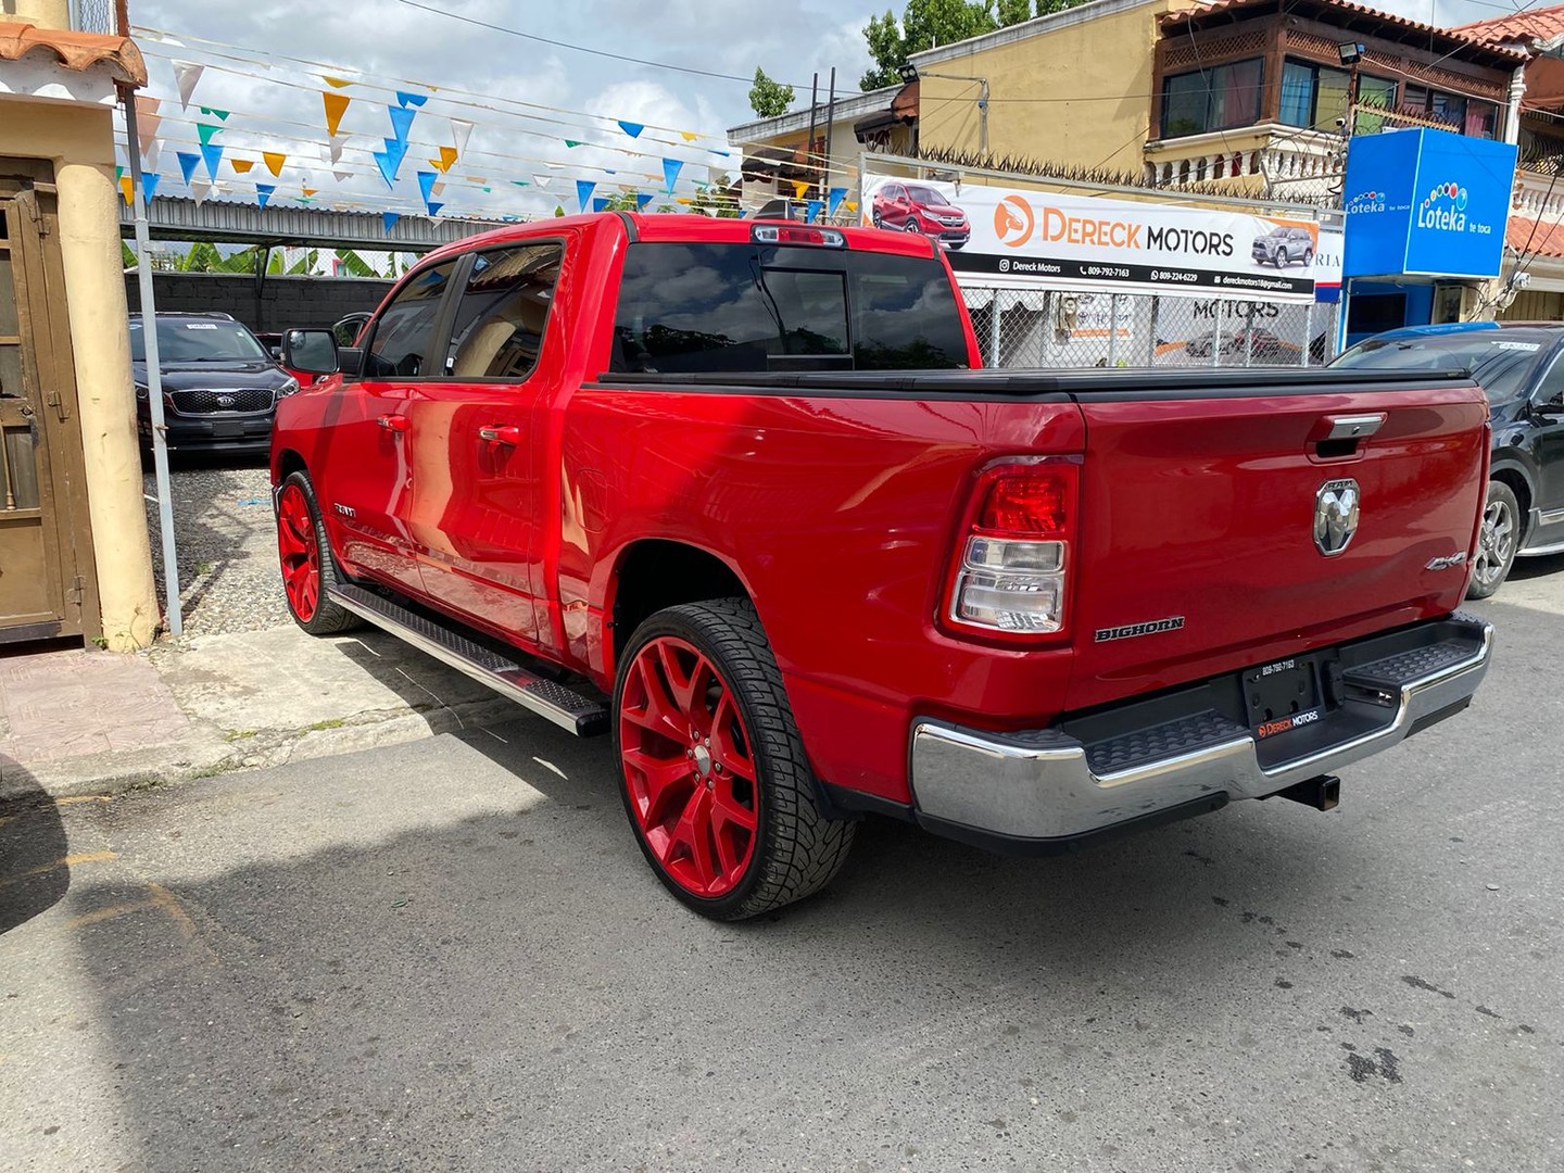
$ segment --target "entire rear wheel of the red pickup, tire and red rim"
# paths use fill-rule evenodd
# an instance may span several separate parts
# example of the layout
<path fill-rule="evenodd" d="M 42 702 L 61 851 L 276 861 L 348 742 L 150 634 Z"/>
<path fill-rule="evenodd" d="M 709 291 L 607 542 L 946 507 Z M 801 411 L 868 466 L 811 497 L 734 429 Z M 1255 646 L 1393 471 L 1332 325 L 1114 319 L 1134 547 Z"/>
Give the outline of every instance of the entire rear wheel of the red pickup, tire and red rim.
<path fill-rule="evenodd" d="M 637 843 L 713 920 L 824 887 L 856 824 L 823 818 L 771 644 L 746 599 L 657 612 L 619 662 L 615 754 Z"/>

